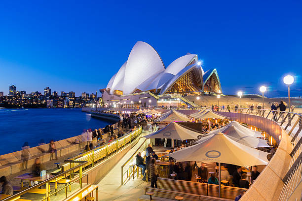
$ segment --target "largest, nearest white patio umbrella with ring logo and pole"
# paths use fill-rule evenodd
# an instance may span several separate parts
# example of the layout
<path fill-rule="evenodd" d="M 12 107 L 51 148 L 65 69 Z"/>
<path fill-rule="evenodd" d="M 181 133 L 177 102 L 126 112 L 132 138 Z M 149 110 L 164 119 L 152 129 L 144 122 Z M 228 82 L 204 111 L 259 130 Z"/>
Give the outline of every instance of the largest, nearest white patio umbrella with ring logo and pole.
<path fill-rule="evenodd" d="M 219 196 L 221 195 L 220 164 L 234 164 L 243 167 L 266 165 L 269 153 L 250 148 L 236 142 L 223 133 L 213 134 L 207 140 L 168 154 L 178 162 L 206 161 L 219 163 Z"/>

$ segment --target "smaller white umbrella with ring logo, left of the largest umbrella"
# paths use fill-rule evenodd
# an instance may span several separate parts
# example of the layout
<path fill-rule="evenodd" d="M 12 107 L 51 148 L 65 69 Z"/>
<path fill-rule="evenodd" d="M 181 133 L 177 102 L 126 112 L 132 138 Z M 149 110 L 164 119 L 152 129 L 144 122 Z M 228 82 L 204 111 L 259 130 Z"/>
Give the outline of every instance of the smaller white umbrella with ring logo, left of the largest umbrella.
<path fill-rule="evenodd" d="M 146 135 L 144 137 L 148 138 L 171 138 L 171 139 L 197 139 L 198 135 L 202 135 L 200 133 L 191 131 L 177 124 L 176 122 L 171 122 L 166 127 L 161 130 L 156 131 L 155 133 Z"/>

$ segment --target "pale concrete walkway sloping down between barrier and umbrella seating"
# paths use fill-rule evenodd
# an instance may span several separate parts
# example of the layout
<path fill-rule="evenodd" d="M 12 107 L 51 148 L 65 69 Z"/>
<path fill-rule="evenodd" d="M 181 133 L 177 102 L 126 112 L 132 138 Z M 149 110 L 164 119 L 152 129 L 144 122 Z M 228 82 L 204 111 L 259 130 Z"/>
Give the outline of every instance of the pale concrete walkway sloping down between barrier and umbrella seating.
<path fill-rule="evenodd" d="M 143 135 L 147 134 L 143 131 Z M 138 143 L 108 172 L 98 183 L 100 201 L 137 201 L 144 194 L 147 186 L 142 179 L 135 178 L 121 185 L 121 166 L 135 153 L 145 138 L 139 139 Z"/>

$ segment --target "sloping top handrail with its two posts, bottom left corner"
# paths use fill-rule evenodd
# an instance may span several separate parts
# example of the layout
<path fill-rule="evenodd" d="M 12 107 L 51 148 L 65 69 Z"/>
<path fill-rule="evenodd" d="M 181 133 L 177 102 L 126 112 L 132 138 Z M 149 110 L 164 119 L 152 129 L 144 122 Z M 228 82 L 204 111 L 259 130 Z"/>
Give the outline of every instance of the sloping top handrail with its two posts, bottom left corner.
<path fill-rule="evenodd" d="M 9 196 L 9 197 L 7 197 L 7 198 L 1 200 L 1 201 L 11 201 L 11 200 L 14 200 L 14 199 L 16 199 L 17 197 L 22 196 L 23 194 L 28 193 L 30 190 L 36 189 L 36 188 L 38 188 L 38 187 L 40 187 L 40 186 L 42 186 L 42 185 L 45 185 L 45 184 L 46 184 L 46 197 L 45 197 L 45 199 L 43 199 L 43 200 L 46 200 L 46 199 L 48 199 L 48 197 L 49 197 L 49 196 L 47 196 L 47 195 L 48 195 L 48 192 L 49 192 L 49 183 L 50 183 L 50 181 L 52 181 L 52 180 L 54 180 L 54 179 L 56 179 L 56 178 L 58 178 L 58 177 L 64 176 L 65 174 L 70 173 L 71 171 L 73 171 L 73 170 L 75 170 L 75 169 L 77 169 L 77 168 L 80 168 L 80 171 L 81 171 L 81 167 L 84 166 L 86 163 L 88 163 L 88 162 L 84 162 L 84 163 L 82 163 L 82 164 L 80 164 L 80 165 L 77 165 L 76 167 L 73 167 L 73 168 L 71 168 L 71 169 L 69 169 L 69 170 L 67 170 L 67 171 L 65 171 L 65 172 L 59 173 L 59 174 L 57 174 L 57 175 L 55 175 L 55 176 L 53 176 L 53 177 L 51 177 L 51 178 L 46 179 L 45 181 L 42 181 L 42 182 L 40 182 L 40 183 L 38 183 L 38 184 L 36 184 L 36 185 L 34 185 L 34 186 L 31 186 L 31 187 L 29 187 L 29 188 L 27 188 L 27 189 L 25 189 L 25 190 L 23 190 L 23 191 L 21 191 L 21 192 L 19 192 L 19 193 L 16 193 L 16 194 L 14 194 L 14 195 L 11 195 L 11 196 Z M 81 172 L 80 172 L 80 174 L 81 174 Z M 82 177 L 81 177 L 81 178 L 82 178 Z M 81 179 L 81 178 L 79 178 L 79 179 Z"/>

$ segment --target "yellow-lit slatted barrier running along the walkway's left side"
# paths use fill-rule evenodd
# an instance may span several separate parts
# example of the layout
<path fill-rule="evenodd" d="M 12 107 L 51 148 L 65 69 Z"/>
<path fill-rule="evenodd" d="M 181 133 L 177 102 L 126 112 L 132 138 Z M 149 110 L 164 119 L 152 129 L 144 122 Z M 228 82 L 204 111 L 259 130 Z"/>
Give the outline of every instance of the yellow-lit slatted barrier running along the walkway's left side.
<path fill-rule="evenodd" d="M 87 162 L 87 164 L 84 166 L 84 170 L 85 167 L 89 165 L 91 165 L 91 167 L 94 167 L 94 163 L 97 162 L 98 160 L 102 160 L 102 158 L 108 159 L 108 156 L 110 154 L 114 155 L 118 153 L 118 151 L 121 148 L 126 147 L 127 144 L 130 144 L 132 141 L 140 137 L 142 131 L 143 128 L 142 126 L 140 126 L 135 131 L 125 134 L 124 136 L 119 137 L 108 144 L 102 145 L 100 147 L 82 153 L 80 155 L 77 155 L 70 159 L 70 160 L 74 160 L 73 163 L 67 163 L 62 166 L 62 171 L 65 171 L 69 168 L 73 168 L 76 165 L 77 161 Z"/>

